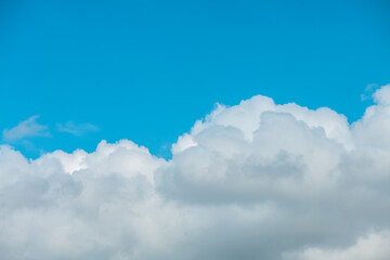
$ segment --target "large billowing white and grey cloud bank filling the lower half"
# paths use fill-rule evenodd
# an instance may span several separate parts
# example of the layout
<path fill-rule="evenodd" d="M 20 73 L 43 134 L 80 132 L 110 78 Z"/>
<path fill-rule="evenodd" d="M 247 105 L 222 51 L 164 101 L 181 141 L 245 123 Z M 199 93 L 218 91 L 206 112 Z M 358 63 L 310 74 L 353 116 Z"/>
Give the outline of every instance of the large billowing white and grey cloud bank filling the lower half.
<path fill-rule="evenodd" d="M 361 120 L 253 96 L 166 161 L 0 148 L 0 259 L 390 259 L 390 87 Z"/>

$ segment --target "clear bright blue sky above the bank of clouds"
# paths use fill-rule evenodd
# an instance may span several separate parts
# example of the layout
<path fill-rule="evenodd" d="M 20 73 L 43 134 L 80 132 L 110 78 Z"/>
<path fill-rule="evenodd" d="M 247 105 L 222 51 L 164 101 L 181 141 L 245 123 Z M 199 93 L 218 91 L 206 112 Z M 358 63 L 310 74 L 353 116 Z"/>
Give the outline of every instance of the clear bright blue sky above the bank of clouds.
<path fill-rule="evenodd" d="M 390 82 L 389 12 L 387 1 L 1 1 L 2 143 L 36 157 L 129 139 L 169 157 L 216 102 L 255 94 L 352 122 L 367 86 Z M 26 123 L 35 134 L 6 138 Z"/>

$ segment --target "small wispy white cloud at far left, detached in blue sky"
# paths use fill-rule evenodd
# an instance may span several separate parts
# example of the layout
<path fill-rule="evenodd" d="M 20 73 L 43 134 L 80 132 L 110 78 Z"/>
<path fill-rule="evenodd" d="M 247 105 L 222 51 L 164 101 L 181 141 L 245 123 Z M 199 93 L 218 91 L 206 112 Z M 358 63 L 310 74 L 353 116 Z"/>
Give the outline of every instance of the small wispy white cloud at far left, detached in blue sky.
<path fill-rule="evenodd" d="M 21 121 L 16 127 L 4 129 L 2 138 L 6 142 L 13 142 L 25 138 L 50 136 L 48 127 L 37 122 L 38 115 L 31 116 L 25 121 Z"/>

